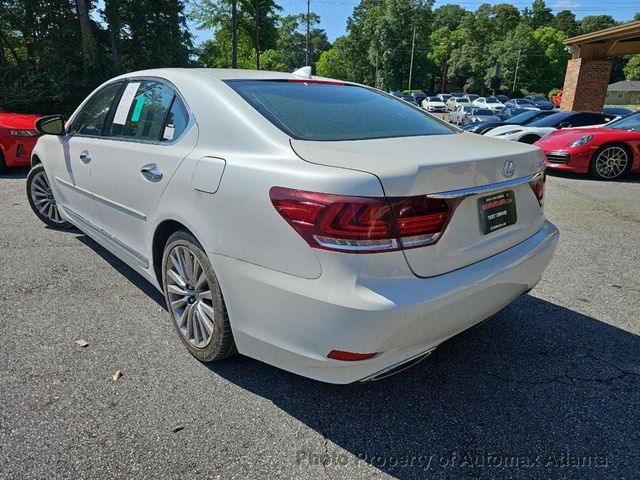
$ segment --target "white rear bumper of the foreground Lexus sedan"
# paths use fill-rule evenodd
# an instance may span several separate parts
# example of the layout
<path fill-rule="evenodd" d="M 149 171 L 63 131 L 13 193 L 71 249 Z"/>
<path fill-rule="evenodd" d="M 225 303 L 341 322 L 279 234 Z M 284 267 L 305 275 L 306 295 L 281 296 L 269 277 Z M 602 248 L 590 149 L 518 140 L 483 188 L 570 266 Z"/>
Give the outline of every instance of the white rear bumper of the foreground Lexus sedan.
<path fill-rule="evenodd" d="M 302 279 L 210 253 L 238 351 L 306 377 L 345 384 L 375 376 L 435 348 L 503 309 L 539 281 L 558 230 L 437 277 L 335 275 Z M 395 272 L 397 273 L 397 272 Z M 377 352 L 342 362 L 331 350 Z"/>

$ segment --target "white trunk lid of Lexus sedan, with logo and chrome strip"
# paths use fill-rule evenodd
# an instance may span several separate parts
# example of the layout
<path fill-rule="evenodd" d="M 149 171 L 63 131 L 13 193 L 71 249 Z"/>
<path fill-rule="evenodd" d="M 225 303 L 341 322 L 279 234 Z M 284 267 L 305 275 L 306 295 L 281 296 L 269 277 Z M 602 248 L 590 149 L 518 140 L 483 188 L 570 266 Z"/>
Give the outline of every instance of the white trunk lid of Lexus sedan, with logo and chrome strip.
<path fill-rule="evenodd" d="M 291 140 L 291 146 L 305 161 L 376 175 L 387 197 L 445 194 L 455 209 L 442 237 L 434 245 L 404 250 L 410 268 L 420 277 L 446 273 L 500 253 L 531 237 L 544 222 L 528 183 L 544 165 L 542 152 L 536 147 L 474 134 L 337 142 Z M 511 173 L 507 177 L 503 169 L 509 161 L 515 172 L 507 172 Z M 517 219 L 485 234 L 481 202 L 505 191 L 513 192 Z"/>

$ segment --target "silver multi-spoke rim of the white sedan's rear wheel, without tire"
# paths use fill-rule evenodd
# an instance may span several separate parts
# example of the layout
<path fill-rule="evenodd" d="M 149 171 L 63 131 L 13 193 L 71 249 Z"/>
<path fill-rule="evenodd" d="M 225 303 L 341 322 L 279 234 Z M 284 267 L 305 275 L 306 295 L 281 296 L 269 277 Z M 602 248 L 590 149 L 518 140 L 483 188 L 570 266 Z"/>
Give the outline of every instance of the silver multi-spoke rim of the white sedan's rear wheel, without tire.
<path fill-rule="evenodd" d="M 178 330 L 189 344 L 205 348 L 216 333 L 216 322 L 211 287 L 202 264 L 191 250 L 178 245 L 169 253 L 165 275 Z"/>

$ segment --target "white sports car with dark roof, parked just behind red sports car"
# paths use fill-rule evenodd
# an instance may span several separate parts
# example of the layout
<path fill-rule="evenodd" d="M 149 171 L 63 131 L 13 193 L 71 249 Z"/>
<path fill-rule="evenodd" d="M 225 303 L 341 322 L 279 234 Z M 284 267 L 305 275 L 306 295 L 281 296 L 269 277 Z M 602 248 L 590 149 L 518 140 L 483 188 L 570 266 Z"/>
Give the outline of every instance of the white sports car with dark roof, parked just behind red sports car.
<path fill-rule="evenodd" d="M 602 126 L 616 118 L 613 115 L 597 112 L 557 112 L 527 125 L 502 125 L 489 130 L 485 135 L 532 144 L 559 128 Z"/>

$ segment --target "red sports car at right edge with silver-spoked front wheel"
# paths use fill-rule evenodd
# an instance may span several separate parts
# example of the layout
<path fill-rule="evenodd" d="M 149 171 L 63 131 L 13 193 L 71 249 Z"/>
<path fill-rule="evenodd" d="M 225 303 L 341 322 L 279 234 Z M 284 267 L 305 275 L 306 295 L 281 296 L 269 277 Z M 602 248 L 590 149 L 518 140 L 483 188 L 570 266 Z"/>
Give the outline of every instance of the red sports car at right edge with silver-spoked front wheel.
<path fill-rule="evenodd" d="M 640 172 L 640 112 L 605 127 L 566 128 L 538 140 L 547 168 L 614 180 Z"/>

